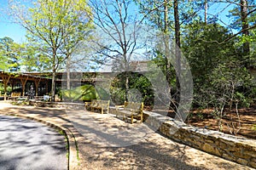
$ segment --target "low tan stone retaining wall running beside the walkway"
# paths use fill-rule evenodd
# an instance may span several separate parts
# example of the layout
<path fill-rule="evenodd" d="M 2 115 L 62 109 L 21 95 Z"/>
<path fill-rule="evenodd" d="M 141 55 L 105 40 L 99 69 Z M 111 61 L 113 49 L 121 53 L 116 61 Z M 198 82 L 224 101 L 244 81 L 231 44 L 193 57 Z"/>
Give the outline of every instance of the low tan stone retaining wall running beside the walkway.
<path fill-rule="evenodd" d="M 206 151 L 215 156 L 236 161 L 242 165 L 256 168 L 256 140 L 236 137 L 200 127 L 191 127 L 183 122 L 144 111 L 146 123 L 183 144 Z"/>

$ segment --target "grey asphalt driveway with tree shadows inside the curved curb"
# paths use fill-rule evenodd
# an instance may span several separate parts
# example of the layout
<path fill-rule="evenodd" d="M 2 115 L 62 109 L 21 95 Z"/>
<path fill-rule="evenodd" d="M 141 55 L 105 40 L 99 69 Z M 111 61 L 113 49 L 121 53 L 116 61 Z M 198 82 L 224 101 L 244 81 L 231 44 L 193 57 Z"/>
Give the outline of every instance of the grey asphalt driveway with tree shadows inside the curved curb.
<path fill-rule="evenodd" d="M 0 116 L 0 169 L 67 169 L 65 139 L 39 122 Z"/>

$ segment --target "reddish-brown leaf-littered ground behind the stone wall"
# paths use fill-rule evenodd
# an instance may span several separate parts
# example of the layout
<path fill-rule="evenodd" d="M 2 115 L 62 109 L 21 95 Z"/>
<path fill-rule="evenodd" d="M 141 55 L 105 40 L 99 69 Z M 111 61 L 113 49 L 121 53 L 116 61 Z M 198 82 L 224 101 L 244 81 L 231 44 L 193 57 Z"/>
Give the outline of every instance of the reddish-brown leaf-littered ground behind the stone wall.
<path fill-rule="evenodd" d="M 207 127 L 224 133 L 256 139 L 256 104 L 250 108 L 238 109 L 239 115 L 237 115 L 236 110 L 225 111 L 221 120 L 218 119 L 216 114 L 212 114 L 212 111 L 192 111 L 186 122 L 195 127 Z M 219 122 L 222 124 L 221 127 L 218 126 Z"/>

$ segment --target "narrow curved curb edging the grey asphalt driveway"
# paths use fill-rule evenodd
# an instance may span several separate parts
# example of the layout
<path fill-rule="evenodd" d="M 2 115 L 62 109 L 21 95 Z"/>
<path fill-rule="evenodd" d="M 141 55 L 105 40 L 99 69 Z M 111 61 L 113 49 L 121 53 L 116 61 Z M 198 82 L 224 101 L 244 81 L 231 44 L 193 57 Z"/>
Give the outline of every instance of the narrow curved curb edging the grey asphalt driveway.
<path fill-rule="evenodd" d="M 66 139 L 67 139 L 67 145 L 68 145 L 68 160 L 67 160 L 67 170 L 77 170 L 79 168 L 79 148 L 78 144 L 75 138 L 75 135 L 71 132 L 70 129 L 67 127 L 63 127 L 57 123 L 54 122 L 47 122 L 43 119 L 39 119 L 38 117 L 32 117 L 32 116 L 24 116 L 19 114 L 1 114 L 4 116 L 17 116 L 20 118 L 29 119 L 36 122 L 44 123 L 48 127 L 53 127 L 57 130 L 60 130 L 64 133 Z"/>

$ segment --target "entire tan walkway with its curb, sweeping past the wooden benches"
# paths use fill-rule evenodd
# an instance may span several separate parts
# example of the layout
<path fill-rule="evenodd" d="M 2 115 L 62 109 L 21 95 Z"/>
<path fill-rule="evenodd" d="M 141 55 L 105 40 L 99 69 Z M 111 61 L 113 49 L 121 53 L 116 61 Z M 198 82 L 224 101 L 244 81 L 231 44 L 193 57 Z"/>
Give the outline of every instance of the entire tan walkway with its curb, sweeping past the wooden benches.
<path fill-rule="evenodd" d="M 0 114 L 23 116 L 65 130 L 70 169 L 253 169 L 178 144 L 144 124 L 131 125 L 111 114 L 3 103 L 0 108 Z"/>

